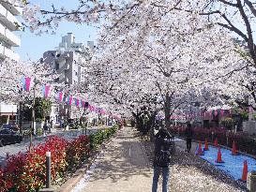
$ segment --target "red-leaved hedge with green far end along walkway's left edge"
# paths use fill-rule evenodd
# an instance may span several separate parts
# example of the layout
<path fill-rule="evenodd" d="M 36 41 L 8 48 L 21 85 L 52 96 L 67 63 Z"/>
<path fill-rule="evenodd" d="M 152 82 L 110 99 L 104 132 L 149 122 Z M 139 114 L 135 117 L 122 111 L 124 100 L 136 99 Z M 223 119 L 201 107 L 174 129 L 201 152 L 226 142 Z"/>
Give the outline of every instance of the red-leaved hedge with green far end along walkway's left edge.
<path fill-rule="evenodd" d="M 97 149 L 103 140 L 116 132 L 113 126 L 95 134 L 65 140 L 56 136 L 48 138 L 31 151 L 7 155 L 7 166 L 0 168 L 0 192 L 36 192 L 46 181 L 46 152 L 51 152 L 51 173 L 53 184 L 62 180 L 68 170 L 76 170 L 90 152 Z"/>

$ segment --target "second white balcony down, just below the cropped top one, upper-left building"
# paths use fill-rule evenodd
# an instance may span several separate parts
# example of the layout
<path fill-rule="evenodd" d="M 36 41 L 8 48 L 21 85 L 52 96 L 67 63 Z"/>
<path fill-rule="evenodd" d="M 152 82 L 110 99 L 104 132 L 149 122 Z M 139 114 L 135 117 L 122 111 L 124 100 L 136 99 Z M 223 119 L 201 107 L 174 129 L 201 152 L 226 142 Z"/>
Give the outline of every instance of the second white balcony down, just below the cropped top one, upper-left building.
<path fill-rule="evenodd" d="M 11 12 L 9 12 L 8 9 L 2 5 L 0 5 L 0 22 L 6 25 L 11 31 L 19 30 L 15 23 L 22 25 L 22 23 L 19 22 L 17 18 L 14 17 Z"/>

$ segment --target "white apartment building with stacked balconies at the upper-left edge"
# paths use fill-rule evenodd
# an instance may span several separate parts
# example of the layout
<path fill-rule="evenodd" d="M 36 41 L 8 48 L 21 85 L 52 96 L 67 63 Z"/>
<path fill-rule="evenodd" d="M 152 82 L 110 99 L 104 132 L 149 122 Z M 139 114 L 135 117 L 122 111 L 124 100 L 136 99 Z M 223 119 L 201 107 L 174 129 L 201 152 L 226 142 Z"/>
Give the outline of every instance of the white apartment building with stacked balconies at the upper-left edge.
<path fill-rule="evenodd" d="M 21 39 L 14 34 L 14 31 L 18 31 L 18 26 L 22 25 L 17 19 L 22 11 L 22 7 L 15 6 L 8 0 L 0 3 L 0 58 L 8 57 L 15 61 L 20 59 L 13 48 L 21 46 Z"/>

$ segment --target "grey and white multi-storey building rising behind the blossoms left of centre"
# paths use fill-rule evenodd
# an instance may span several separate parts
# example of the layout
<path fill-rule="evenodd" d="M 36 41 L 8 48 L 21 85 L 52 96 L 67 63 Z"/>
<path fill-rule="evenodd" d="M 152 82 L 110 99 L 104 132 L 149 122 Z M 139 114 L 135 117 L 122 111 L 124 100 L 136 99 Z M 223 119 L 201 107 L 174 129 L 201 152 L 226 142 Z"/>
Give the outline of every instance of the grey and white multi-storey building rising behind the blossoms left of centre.
<path fill-rule="evenodd" d="M 76 84 L 84 80 L 83 70 L 86 62 L 90 60 L 91 52 L 94 51 L 94 42 L 88 41 L 87 44 L 76 43 L 72 33 L 62 37 L 62 41 L 54 51 L 44 52 L 43 58 L 46 64 L 53 67 L 59 74 L 58 83 Z M 59 117 L 64 116 L 68 119 L 77 118 L 77 108 L 72 106 L 59 106 Z"/>

